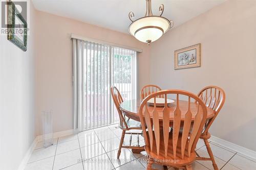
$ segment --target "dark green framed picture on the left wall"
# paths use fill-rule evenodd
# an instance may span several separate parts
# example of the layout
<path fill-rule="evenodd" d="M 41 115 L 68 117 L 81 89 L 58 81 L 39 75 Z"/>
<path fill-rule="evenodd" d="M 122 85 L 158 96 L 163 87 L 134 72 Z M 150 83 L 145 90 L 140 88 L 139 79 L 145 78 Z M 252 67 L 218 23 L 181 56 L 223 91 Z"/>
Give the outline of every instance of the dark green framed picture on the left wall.
<path fill-rule="evenodd" d="M 28 25 L 12 1 L 8 4 L 8 35 L 7 39 L 23 51 L 27 51 Z"/>

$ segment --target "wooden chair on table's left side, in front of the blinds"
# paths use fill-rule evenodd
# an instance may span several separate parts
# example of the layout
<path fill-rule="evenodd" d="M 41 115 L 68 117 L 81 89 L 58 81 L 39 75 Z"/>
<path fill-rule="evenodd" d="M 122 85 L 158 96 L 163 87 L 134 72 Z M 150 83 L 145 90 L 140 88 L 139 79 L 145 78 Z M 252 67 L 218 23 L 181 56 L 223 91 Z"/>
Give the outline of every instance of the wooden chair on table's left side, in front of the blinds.
<path fill-rule="evenodd" d="M 125 115 L 123 115 L 122 111 L 119 108 L 120 104 L 123 102 L 123 99 L 122 99 L 120 92 L 118 91 L 118 89 L 115 86 L 111 87 L 111 95 L 112 95 L 112 99 L 114 101 L 114 104 L 115 104 L 116 109 L 119 114 L 119 119 L 120 119 L 119 128 L 122 130 L 122 136 L 121 136 L 121 140 L 120 140 L 120 144 L 119 144 L 119 150 L 117 153 L 117 159 L 119 159 L 119 156 L 121 154 L 121 148 L 132 149 L 132 151 L 134 153 L 140 153 L 141 151 L 144 151 L 144 147 L 139 146 L 139 135 L 142 135 L 142 133 L 126 132 L 129 130 L 141 130 L 142 131 L 140 122 L 137 122 L 130 118 L 126 118 Z M 124 139 L 125 134 L 131 135 L 130 136 L 130 145 L 123 145 L 123 139 Z M 136 137 L 137 137 L 137 147 L 131 145 L 132 144 L 132 135 L 136 135 Z"/>

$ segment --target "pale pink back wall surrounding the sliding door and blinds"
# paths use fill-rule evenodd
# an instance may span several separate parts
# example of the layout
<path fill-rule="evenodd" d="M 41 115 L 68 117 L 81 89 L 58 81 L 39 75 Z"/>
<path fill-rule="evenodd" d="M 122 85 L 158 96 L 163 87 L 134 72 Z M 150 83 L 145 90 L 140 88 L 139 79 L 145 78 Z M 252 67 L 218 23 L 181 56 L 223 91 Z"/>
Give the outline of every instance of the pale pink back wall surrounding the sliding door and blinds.
<path fill-rule="evenodd" d="M 54 132 L 73 129 L 71 33 L 141 48 L 139 86 L 150 80 L 150 47 L 128 34 L 41 11 L 36 11 L 36 30 L 36 135 L 42 110 L 53 110 Z"/>

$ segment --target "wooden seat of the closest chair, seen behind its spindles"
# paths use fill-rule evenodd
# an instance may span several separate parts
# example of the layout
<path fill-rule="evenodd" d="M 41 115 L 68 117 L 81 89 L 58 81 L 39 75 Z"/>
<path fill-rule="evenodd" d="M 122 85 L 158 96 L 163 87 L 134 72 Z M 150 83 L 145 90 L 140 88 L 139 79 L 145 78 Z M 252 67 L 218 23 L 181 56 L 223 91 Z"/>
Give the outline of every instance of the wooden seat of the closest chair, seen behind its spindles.
<path fill-rule="evenodd" d="M 193 151 L 190 154 L 190 156 L 188 156 L 188 149 L 187 149 L 188 144 L 187 143 L 186 143 L 184 158 L 182 159 L 182 157 L 181 157 L 181 136 L 182 136 L 181 133 L 178 138 L 177 149 L 176 149 L 176 158 L 174 158 L 174 155 L 173 155 L 174 152 L 173 152 L 173 134 L 172 133 L 169 133 L 167 157 L 165 157 L 163 134 L 161 134 L 161 136 L 160 136 L 159 155 L 157 155 L 156 140 L 155 140 L 154 133 L 153 133 L 153 136 L 154 136 L 153 137 L 154 138 L 153 150 L 151 151 L 150 148 L 148 148 L 145 145 L 145 151 L 148 155 L 150 155 L 151 158 L 156 159 L 158 161 L 162 161 L 162 162 L 164 162 L 163 164 L 169 165 L 169 166 L 183 166 L 183 165 L 191 164 L 194 162 L 194 160 L 196 158 L 196 153 L 195 153 L 195 151 Z M 148 141 L 150 141 L 149 138 L 148 138 Z"/>

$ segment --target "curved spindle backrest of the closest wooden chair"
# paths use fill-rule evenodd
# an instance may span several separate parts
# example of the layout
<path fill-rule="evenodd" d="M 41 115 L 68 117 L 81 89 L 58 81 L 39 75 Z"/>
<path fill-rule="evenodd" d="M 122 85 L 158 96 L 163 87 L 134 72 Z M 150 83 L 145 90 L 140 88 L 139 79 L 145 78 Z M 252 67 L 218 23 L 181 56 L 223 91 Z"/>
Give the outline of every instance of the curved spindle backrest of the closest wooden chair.
<path fill-rule="evenodd" d="M 176 98 L 176 108 L 174 110 L 174 115 L 170 115 L 170 108 L 167 105 L 167 95 L 170 95 L 170 94 L 175 95 L 175 98 Z M 159 107 L 156 107 L 156 97 L 158 95 L 163 95 L 165 98 L 165 104 L 163 109 L 159 109 Z M 183 117 L 183 120 L 181 120 L 180 108 L 185 106 L 182 105 L 180 107 L 179 96 L 188 98 L 187 111 L 185 113 L 185 116 Z M 154 108 L 148 109 L 147 101 L 152 98 L 155 99 Z M 193 99 L 198 104 L 196 105 L 196 108 L 194 108 L 193 111 L 191 111 L 190 100 L 193 100 Z M 162 91 L 153 93 L 151 95 L 148 95 L 142 101 L 139 109 L 139 115 L 140 115 L 142 130 L 143 130 L 143 136 L 145 139 L 145 147 L 147 147 L 147 149 L 149 149 L 151 152 L 154 152 L 153 145 L 155 145 L 156 146 L 155 148 L 157 151 L 156 154 L 159 156 L 160 140 L 163 140 L 164 147 L 163 146 L 161 147 L 164 148 L 164 154 L 166 158 L 168 153 L 168 147 L 169 147 L 168 140 L 172 140 L 171 142 L 172 143 L 171 148 L 173 149 L 172 157 L 174 159 L 176 159 L 176 157 L 183 159 L 184 154 L 190 156 L 190 154 L 194 152 L 196 148 L 197 141 L 202 133 L 203 125 L 206 120 L 207 108 L 205 104 L 202 102 L 202 100 L 199 99 L 198 96 L 193 93 L 190 93 L 188 91 L 183 91 L 183 90 L 162 90 Z M 192 118 L 192 115 L 195 115 L 194 119 Z M 173 117 L 171 121 L 170 121 L 170 116 Z M 194 122 L 193 130 L 189 135 L 190 125 L 193 122 Z M 169 131 L 170 125 L 172 125 L 173 127 L 172 133 L 170 133 Z M 160 126 L 163 126 L 162 127 L 163 130 L 161 130 Z M 183 128 L 181 126 L 183 126 Z M 147 132 L 146 132 L 146 127 L 147 127 Z M 154 131 L 153 131 L 153 127 L 154 127 Z M 182 136 L 180 136 L 181 140 L 179 140 L 179 135 L 181 135 L 180 132 L 182 132 Z M 172 136 L 169 137 L 169 135 L 172 135 Z M 188 139 L 188 136 L 190 136 L 189 139 Z M 154 140 L 155 142 L 153 142 Z M 176 152 L 177 145 L 181 146 L 181 153 Z M 187 150 L 186 151 L 187 153 L 185 153 L 185 150 Z"/>

